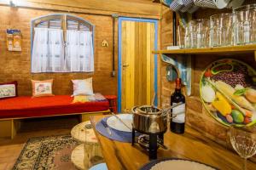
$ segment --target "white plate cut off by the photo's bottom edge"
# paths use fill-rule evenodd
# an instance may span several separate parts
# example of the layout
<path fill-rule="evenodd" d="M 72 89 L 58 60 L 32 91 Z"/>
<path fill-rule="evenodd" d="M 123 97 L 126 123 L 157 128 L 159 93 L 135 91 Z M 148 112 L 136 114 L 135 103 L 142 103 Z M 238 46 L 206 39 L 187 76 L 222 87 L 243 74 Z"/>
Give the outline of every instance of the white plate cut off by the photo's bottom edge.
<path fill-rule="evenodd" d="M 170 161 L 161 161 L 151 167 L 150 170 L 214 170 L 214 168 L 207 165 L 198 163 L 196 161 L 185 161 L 185 160 L 170 160 Z"/>

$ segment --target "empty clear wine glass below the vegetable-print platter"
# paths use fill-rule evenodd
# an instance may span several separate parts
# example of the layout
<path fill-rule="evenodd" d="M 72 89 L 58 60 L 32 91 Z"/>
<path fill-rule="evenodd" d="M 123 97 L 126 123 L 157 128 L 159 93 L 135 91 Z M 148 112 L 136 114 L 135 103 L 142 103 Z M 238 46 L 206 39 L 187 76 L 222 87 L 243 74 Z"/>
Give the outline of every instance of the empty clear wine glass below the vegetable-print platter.
<path fill-rule="evenodd" d="M 243 170 L 247 170 L 247 158 L 256 154 L 256 131 L 250 127 L 230 126 L 230 142 L 241 158 L 243 158 Z"/>

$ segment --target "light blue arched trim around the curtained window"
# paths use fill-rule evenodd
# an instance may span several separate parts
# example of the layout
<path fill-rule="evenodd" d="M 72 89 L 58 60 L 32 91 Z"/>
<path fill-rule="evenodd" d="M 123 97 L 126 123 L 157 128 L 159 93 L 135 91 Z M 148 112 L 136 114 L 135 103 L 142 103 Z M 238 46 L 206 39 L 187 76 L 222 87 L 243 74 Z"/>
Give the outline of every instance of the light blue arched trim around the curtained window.
<path fill-rule="evenodd" d="M 78 18 L 79 20 L 83 20 L 84 22 L 88 23 L 92 27 L 92 48 L 93 48 L 93 56 L 94 56 L 94 54 L 95 54 L 95 51 L 94 51 L 95 50 L 95 47 L 94 47 L 94 44 L 95 44 L 95 40 L 94 40 L 94 38 L 95 38 L 95 25 L 91 24 L 90 21 L 84 20 L 83 18 L 81 18 L 79 16 L 76 16 L 76 15 L 73 15 L 73 14 L 66 14 L 66 13 L 46 14 L 46 15 L 42 15 L 42 16 L 39 16 L 37 18 L 34 18 L 30 22 L 30 26 L 31 26 L 31 28 L 30 28 L 30 56 L 31 56 L 31 61 L 32 61 L 32 49 L 33 49 L 33 33 L 34 33 L 33 25 L 34 25 L 34 22 L 36 20 L 43 19 L 44 17 L 48 17 L 48 16 L 61 16 L 61 15 L 66 15 L 66 16 Z M 32 72 L 32 62 L 31 62 L 30 69 L 31 69 L 31 72 Z M 55 72 L 55 73 L 58 73 L 58 72 Z M 61 72 L 61 73 L 63 73 L 63 72 Z"/>

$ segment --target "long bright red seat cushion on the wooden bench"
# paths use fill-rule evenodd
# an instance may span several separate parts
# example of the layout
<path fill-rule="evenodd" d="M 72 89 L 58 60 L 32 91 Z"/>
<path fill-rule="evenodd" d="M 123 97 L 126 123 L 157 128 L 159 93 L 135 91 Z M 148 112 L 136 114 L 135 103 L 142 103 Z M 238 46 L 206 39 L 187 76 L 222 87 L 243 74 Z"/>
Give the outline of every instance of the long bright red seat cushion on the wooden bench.
<path fill-rule="evenodd" d="M 32 98 L 20 96 L 0 100 L 0 118 L 65 115 L 70 113 L 107 111 L 108 100 L 72 103 L 69 95 Z"/>

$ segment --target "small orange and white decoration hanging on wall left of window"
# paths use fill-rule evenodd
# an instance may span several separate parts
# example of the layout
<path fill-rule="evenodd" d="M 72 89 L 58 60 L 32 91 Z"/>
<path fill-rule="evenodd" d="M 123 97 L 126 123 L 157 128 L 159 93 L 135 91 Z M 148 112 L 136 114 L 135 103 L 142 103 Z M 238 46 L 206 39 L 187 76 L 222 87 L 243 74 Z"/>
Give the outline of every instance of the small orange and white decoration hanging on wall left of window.
<path fill-rule="evenodd" d="M 21 32 L 20 30 L 8 29 L 6 31 L 7 48 L 9 51 L 21 51 Z"/>

